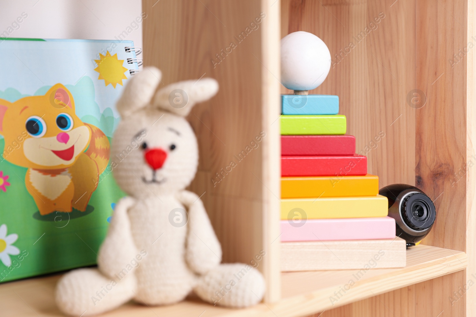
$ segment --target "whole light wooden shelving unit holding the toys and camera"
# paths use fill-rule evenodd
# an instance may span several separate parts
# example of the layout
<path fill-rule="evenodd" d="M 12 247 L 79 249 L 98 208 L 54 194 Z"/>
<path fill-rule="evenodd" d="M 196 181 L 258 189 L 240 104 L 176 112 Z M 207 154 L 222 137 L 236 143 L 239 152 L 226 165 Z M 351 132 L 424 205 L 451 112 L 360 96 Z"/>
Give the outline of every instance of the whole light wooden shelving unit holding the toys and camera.
<path fill-rule="evenodd" d="M 249 263 L 266 251 L 258 269 L 267 293 L 241 310 L 188 298 L 167 307 L 131 303 L 104 316 L 476 316 L 476 287 L 450 300 L 476 272 L 476 48 L 467 49 L 476 43 L 475 2 L 143 0 L 144 64 L 159 67 L 165 85 L 218 80 L 217 96 L 188 116 L 200 152 L 190 190 L 204 193 L 225 262 Z M 437 210 L 422 245 L 407 250 L 407 267 L 368 271 L 334 306 L 330 297 L 354 271 L 280 272 L 279 94 L 289 91 L 278 80 L 279 40 L 298 30 L 329 47 L 333 66 L 310 93 L 339 96 L 369 173 L 381 187 L 416 185 Z M 259 147 L 215 184 L 261 131 Z M 371 144 L 380 132 L 385 137 Z M 62 316 L 53 302 L 58 279 L 0 285 L 0 316 Z"/>

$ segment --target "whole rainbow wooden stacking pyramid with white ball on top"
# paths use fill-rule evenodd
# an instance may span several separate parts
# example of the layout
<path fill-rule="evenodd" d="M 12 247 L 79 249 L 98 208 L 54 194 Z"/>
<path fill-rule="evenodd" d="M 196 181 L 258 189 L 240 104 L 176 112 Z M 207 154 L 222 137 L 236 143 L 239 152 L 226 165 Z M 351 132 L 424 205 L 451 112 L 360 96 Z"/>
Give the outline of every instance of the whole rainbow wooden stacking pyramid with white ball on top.
<path fill-rule="evenodd" d="M 281 80 L 294 90 L 281 97 L 281 269 L 361 269 L 378 250 L 378 268 L 403 267 L 405 240 L 395 237 L 378 176 L 368 173 L 367 157 L 355 153 L 356 138 L 346 134 L 339 97 L 308 94 L 327 77 L 329 60 L 313 34 L 281 40 Z"/>

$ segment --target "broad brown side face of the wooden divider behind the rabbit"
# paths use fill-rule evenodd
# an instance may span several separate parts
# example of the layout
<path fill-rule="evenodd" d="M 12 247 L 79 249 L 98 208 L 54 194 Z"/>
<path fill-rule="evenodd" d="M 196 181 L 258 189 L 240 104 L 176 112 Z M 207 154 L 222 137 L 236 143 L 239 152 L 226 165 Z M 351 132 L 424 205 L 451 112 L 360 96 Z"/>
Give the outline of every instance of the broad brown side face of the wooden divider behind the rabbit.
<path fill-rule="evenodd" d="M 249 262 L 260 250 L 260 241 L 248 237 L 260 233 L 262 184 L 251 172 L 260 177 L 261 151 L 254 149 L 242 162 L 234 155 L 262 130 L 261 64 L 251 54 L 261 55 L 259 32 L 249 34 L 216 68 L 212 59 L 218 60 L 215 54 L 231 41 L 237 42 L 234 36 L 259 16 L 260 5 L 252 1 L 247 6 L 159 1 L 149 9 L 155 2 L 143 2 L 148 14 L 144 19 L 145 65 L 159 67 L 165 85 L 201 76 L 215 78 L 220 85 L 217 96 L 196 106 L 188 116 L 198 136 L 200 156 L 190 189 L 198 195 L 205 192 L 201 199 L 224 245 L 224 261 Z M 234 18 L 227 19 L 230 15 Z M 232 160 L 238 166 L 222 174 L 220 181 L 216 173 Z M 212 179 L 220 182 L 214 187 Z M 248 221 L 239 221 L 243 218 Z"/>

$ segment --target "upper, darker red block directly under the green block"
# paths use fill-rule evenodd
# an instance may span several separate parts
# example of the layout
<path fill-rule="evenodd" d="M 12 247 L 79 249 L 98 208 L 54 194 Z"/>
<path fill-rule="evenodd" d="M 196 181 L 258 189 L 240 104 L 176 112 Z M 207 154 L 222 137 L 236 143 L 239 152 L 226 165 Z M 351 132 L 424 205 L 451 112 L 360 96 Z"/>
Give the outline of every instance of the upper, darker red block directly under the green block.
<path fill-rule="evenodd" d="M 281 155 L 353 155 L 354 135 L 281 135 Z"/>

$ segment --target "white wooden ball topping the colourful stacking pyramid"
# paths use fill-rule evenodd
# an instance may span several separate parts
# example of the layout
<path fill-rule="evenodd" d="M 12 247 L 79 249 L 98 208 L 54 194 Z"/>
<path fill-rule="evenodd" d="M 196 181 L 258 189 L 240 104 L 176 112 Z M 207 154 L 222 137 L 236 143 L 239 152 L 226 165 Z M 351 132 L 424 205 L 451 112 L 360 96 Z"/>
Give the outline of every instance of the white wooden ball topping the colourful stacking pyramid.
<path fill-rule="evenodd" d="M 292 90 L 311 90 L 330 70 L 326 43 L 312 33 L 298 31 L 281 38 L 281 82 Z"/>

